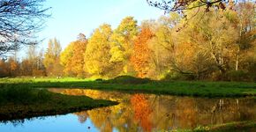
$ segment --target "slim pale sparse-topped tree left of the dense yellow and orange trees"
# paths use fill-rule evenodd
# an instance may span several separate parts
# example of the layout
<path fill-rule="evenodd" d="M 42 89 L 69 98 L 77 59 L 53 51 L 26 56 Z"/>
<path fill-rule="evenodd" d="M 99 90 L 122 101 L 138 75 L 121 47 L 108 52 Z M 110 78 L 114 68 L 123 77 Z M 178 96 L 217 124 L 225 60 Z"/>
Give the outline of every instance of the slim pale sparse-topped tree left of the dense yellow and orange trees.
<path fill-rule="evenodd" d="M 58 40 L 51 39 L 48 48 L 44 54 L 43 64 L 47 70 L 48 76 L 61 76 L 62 66 L 60 65 L 61 45 Z"/>

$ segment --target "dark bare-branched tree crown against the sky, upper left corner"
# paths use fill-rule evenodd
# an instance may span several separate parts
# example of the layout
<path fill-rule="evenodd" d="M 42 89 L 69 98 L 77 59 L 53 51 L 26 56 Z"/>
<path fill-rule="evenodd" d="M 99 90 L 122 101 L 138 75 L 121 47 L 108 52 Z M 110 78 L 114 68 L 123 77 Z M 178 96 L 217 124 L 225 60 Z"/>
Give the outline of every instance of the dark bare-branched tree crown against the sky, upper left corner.
<path fill-rule="evenodd" d="M 0 55 L 20 45 L 29 45 L 41 30 L 49 8 L 44 0 L 3 0 L 0 2 Z"/>

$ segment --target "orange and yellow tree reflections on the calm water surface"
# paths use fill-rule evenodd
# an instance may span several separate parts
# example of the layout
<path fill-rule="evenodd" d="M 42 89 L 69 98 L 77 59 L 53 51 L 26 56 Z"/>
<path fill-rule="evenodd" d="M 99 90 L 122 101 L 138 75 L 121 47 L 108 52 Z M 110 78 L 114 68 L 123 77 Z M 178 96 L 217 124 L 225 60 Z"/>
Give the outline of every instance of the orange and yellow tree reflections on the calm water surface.
<path fill-rule="evenodd" d="M 196 128 L 255 119 L 255 99 L 201 99 L 154 94 L 128 94 L 82 89 L 50 89 L 69 95 L 120 102 L 117 106 L 76 113 L 101 131 L 155 131 Z"/>

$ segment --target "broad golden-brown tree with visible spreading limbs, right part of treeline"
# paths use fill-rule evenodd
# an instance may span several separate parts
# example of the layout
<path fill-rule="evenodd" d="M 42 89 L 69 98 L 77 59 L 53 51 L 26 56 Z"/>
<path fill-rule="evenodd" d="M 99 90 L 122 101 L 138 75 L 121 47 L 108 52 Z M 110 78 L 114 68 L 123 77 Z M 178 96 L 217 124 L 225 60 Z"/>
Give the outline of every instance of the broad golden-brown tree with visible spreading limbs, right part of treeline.
<path fill-rule="evenodd" d="M 193 15 L 195 11 L 188 11 L 188 14 Z M 219 70 L 221 75 L 230 70 L 230 60 L 237 48 L 236 28 L 225 15 L 227 11 L 207 13 L 210 15 L 202 18 L 204 11 L 200 11 L 189 26 L 178 32 L 177 52 L 172 61 L 174 70 L 197 78 L 213 69 Z"/>

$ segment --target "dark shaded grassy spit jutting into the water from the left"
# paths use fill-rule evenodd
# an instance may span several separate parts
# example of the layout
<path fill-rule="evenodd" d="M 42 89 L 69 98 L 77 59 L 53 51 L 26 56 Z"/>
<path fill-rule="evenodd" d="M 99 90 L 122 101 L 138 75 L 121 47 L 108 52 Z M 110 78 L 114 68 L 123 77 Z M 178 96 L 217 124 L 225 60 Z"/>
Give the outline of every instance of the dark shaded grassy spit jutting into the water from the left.
<path fill-rule="evenodd" d="M 68 96 L 22 85 L 6 84 L 0 89 L 0 121 L 68 114 L 110 105 L 117 105 L 117 102 Z"/>

